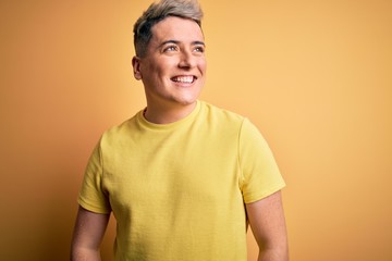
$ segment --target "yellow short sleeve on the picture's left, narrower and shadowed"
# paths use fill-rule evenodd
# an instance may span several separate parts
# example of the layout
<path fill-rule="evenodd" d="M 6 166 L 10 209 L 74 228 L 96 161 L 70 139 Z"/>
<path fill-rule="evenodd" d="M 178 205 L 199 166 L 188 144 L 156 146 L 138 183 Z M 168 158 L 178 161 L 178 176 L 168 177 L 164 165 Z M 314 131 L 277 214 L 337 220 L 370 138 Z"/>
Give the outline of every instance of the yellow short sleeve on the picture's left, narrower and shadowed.
<path fill-rule="evenodd" d="M 91 212 L 107 214 L 111 208 L 107 194 L 103 190 L 103 162 L 100 142 L 95 147 L 88 160 L 78 203 Z"/>

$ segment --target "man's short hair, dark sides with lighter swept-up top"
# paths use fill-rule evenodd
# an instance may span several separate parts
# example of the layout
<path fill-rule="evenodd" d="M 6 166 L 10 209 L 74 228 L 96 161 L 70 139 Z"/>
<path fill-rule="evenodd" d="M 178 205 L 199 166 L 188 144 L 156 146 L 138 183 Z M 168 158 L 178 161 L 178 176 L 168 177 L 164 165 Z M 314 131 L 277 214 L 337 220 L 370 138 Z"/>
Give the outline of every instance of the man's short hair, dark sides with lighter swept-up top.
<path fill-rule="evenodd" d="M 152 37 L 152 26 L 168 16 L 193 20 L 201 28 L 203 10 L 197 0 L 161 0 L 152 3 L 134 25 L 134 46 L 137 57 L 146 55 L 147 46 Z"/>

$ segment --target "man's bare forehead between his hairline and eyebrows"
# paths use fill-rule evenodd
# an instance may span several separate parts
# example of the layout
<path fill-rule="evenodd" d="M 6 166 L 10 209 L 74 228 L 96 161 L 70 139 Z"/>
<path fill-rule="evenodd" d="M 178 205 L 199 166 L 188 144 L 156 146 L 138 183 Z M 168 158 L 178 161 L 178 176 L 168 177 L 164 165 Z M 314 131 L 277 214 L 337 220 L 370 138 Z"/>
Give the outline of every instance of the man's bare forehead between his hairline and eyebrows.
<path fill-rule="evenodd" d="M 151 41 L 204 41 L 200 26 L 193 20 L 169 16 L 151 28 Z"/>

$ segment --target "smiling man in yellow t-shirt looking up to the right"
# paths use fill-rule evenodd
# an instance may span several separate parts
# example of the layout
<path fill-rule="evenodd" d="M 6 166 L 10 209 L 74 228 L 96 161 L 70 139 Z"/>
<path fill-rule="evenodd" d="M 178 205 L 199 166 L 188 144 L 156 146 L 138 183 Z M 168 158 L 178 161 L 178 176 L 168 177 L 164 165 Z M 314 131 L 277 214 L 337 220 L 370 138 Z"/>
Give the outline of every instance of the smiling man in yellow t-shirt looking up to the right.
<path fill-rule="evenodd" d="M 72 260 L 100 260 L 109 215 L 115 260 L 287 260 L 284 182 L 248 120 L 199 101 L 206 78 L 196 1 L 151 4 L 134 27 L 147 107 L 106 132 L 78 198 Z"/>

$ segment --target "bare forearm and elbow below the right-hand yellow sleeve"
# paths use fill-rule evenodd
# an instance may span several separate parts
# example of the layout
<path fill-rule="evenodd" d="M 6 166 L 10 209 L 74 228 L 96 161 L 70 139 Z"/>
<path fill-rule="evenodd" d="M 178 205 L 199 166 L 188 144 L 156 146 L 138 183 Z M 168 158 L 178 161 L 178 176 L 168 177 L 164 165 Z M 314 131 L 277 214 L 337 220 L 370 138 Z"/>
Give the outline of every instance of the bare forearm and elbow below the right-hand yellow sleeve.
<path fill-rule="evenodd" d="M 287 234 L 281 192 L 247 203 L 246 212 L 259 247 L 258 261 L 287 261 Z"/>

